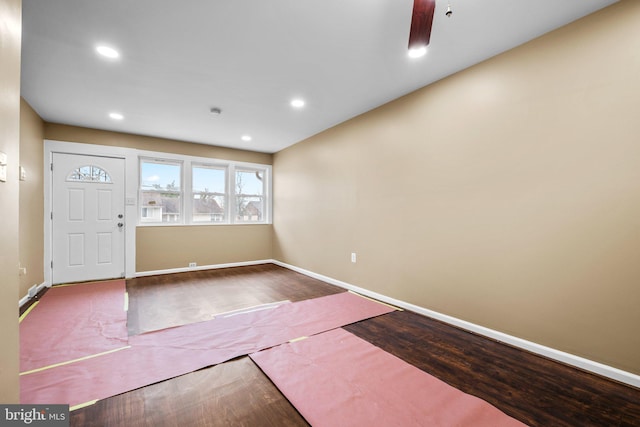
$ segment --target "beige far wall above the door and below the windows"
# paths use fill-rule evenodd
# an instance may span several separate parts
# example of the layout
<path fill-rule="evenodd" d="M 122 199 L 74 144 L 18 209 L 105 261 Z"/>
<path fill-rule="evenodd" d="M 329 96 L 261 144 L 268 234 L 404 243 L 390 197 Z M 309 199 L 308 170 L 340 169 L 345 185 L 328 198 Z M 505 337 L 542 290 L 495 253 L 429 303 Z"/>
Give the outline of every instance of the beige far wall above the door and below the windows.
<path fill-rule="evenodd" d="M 213 147 L 161 138 L 45 124 L 45 138 L 272 164 L 271 154 Z M 136 271 L 184 268 L 272 258 L 271 225 L 144 226 L 136 231 Z"/>

